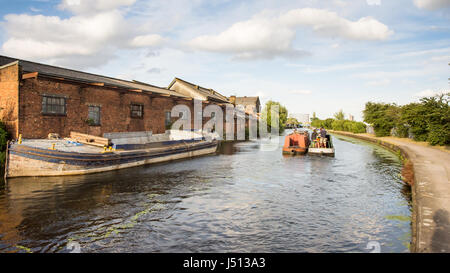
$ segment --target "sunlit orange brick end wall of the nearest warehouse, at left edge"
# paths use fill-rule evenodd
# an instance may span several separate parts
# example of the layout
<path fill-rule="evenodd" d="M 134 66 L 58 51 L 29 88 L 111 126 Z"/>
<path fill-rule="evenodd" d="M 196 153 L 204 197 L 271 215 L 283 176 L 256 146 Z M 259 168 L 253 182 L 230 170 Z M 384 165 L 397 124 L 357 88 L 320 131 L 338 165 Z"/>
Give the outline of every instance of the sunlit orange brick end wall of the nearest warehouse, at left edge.
<path fill-rule="evenodd" d="M 19 65 L 0 69 L 0 120 L 13 138 L 18 136 Z"/>

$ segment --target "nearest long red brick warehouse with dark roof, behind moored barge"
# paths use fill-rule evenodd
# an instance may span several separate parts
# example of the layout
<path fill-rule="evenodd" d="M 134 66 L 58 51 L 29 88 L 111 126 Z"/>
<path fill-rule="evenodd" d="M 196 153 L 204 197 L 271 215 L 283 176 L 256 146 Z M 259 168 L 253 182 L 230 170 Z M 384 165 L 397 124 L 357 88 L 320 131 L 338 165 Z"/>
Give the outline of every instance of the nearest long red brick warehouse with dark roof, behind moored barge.
<path fill-rule="evenodd" d="M 228 100 L 203 101 L 203 107 L 209 103 L 225 110 Z M 66 137 L 71 131 L 164 133 L 177 119 L 170 111 L 178 104 L 191 109 L 193 124 L 193 99 L 176 91 L 0 56 L 0 120 L 13 138 Z"/>

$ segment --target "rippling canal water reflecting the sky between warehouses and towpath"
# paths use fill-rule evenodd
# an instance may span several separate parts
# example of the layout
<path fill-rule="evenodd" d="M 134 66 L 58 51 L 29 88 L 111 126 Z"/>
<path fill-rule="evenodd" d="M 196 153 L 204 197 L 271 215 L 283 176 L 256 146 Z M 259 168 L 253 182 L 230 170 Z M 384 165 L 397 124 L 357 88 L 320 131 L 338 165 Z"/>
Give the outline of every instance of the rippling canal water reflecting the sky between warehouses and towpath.
<path fill-rule="evenodd" d="M 192 160 L 15 179 L 0 189 L 0 252 L 408 252 L 400 160 L 333 141 L 335 158 L 283 156 L 280 137 L 272 151 L 226 143 Z"/>

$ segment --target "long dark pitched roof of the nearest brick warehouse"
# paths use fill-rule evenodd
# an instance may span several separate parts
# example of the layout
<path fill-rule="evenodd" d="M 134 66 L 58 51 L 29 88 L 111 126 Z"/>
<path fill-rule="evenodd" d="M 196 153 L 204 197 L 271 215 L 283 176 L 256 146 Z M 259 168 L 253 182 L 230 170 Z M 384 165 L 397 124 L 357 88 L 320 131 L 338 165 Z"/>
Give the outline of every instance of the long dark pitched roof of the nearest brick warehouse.
<path fill-rule="evenodd" d="M 4 66 L 13 62 L 19 62 L 19 65 L 22 67 L 23 72 L 38 72 L 40 75 L 55 77 L 55 78 L 64 78 L 66 80 L 74 80 L 85 83 L 104 83 L 105 86 L 113 86 L 124 89 L 139 89 L 148 92 L 154 92 L 158 94 L 171 95 L 176 97 L 187 98 L 178 92 L 174 92 L 167 88 L 154 86 L 147 83 L 142 83 L 138 81 L 127 81 L 116 79 L 107 76 L 96 75 L 92 73 L 81 72 L 77 70 L 35 63 L 25 60 L 20 60 L 17 58 L 11 58 L 7 56 L 0 55 L 0 66 Z"/>

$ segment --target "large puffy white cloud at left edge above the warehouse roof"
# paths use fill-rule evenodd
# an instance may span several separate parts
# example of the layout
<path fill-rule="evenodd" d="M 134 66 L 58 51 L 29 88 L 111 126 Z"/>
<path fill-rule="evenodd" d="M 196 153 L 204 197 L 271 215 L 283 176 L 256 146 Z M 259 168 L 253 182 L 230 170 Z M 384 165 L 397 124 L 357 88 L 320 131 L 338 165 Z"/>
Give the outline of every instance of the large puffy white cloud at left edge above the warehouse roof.
<path fill-rule="evenodd" d="M 10 38 L 3 44 L 3 51 L 22 58 L 94 54 L 118 38 L 126 24 L 117 11 L 69 19 L 10 14 L 5 21 Z"/>

